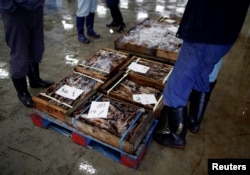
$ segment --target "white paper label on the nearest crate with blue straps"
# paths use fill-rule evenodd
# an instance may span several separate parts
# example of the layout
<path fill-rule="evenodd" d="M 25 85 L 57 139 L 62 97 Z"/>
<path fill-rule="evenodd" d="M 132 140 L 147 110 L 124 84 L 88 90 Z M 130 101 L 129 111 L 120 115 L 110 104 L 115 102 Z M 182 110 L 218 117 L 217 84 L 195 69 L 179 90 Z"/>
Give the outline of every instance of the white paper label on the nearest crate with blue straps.
<path fill-rule="evenodd" d="M 110 102 L 91 103 L 87 118 L 107 118 Z"/>

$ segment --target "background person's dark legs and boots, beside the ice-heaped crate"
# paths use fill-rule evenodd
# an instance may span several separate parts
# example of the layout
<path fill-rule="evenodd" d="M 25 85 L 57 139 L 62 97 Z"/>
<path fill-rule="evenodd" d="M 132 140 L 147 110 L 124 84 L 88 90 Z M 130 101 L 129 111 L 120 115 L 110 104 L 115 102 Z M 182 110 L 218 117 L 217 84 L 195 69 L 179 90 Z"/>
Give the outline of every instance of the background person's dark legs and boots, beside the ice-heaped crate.
<path fill-rule="evenodd" d="M 110 13 L 112 16 L 111 23 L 107 24 L 106 26 L 107 27 L 119 27 L 117 32 L 118 33 L 122 32 L 126 28 L 126 25 L 123 22 L 122 13 L 119 8 L 120 0 L 106 0 L 106 4 L 108 8 L 110 9 Z"/>

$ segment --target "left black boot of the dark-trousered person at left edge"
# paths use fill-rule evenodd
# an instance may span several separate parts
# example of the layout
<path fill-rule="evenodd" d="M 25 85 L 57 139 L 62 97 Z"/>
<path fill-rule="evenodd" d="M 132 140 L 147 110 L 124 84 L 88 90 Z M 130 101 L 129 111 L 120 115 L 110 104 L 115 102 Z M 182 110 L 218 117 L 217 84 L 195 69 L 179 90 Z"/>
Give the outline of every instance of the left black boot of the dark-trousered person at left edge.
<path fill-rule="evenodd" d="M 17 91 L 18 99 L 29 108 L 34 107 L 34 103 L 32 101 L 31 95 L 27 89 L 27 81 L 26 78 L 12 78 L 14 87 Z"/>

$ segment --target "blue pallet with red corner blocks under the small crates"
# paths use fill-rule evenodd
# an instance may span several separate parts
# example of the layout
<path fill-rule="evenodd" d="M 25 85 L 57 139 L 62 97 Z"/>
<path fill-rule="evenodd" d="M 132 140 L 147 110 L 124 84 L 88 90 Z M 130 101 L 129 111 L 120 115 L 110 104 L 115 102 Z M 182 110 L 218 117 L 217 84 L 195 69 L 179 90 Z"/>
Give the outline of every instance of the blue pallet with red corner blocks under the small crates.
<path fill-rule="evenodd" d="M 33 111 L 31 113 L 31 119 L 33 124 L 41 128 L 51 128 L 60 134 L 71 137 L 73 142 L 82 145 L 87 148 L 92 148 L 100 151 L 105 156 L 113 159 L 115 162 L 118 162 L 122 165 L 125 165 L 130 168 L 137 168 L 144 157 L 150 143 L 152 142 L 153 131 L 158 123 L 157 120 L 154 120 L 152 126 L 149 128 L 147 134 L 145 135 L 143 141 L 138 146 L 134 155 L 128 154 L 116 147 L 113 147 L 107 143 L 104 143 L 100 140 L 97 140 L 89 135 L 84 134 L 83 132 L 73 128 L 66 123 L 58 120 L 50 115 L 43 113 L 41 111 Z"/>

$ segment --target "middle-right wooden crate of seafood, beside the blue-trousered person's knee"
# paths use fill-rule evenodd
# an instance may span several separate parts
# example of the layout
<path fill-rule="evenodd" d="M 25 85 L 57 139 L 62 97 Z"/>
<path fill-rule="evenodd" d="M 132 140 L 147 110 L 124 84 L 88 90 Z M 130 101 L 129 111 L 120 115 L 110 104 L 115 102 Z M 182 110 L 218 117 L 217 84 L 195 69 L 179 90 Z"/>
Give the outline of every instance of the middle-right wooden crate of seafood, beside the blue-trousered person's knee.
<path fill-rule="evenodd" d="M 99 90 L 114 98 L 153 111 L 156 118 L 159 117 L 158 114 L 163 108 L 162 85 L 153 84 L 147 77 L 131 76 L 126 72 L 120 72 L 116 77 L 104 83 Z M 134 94 L 154 94 L 157 103 L 142 104 L 136 102 L 133 100 Z"/>

